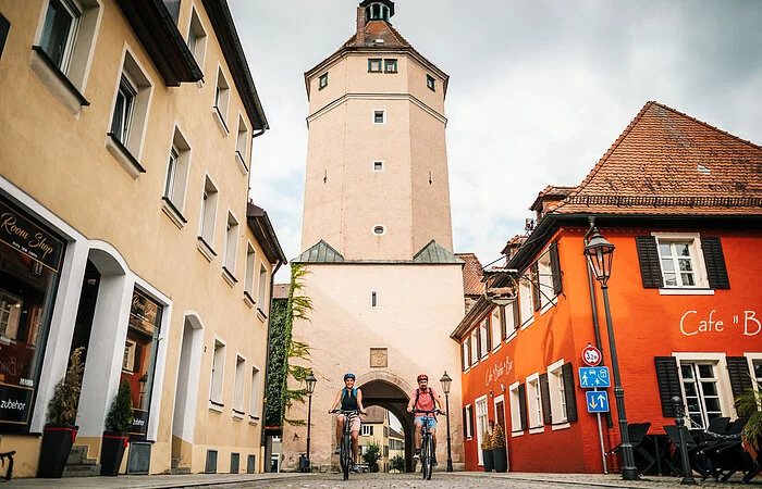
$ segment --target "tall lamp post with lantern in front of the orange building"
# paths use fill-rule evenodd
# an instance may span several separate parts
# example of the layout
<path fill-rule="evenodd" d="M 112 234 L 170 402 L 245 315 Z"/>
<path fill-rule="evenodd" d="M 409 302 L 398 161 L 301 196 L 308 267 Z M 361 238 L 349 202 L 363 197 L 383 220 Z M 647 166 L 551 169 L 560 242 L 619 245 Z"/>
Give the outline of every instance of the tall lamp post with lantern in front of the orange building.
<path fill-rule="evenodd" d="M 609 306 L 609 277 L 611 277 L 611 264 L 614 258 L 614 244 L 606 241 L 597 228 L 585 247 L 587 256 L 595 278 L 601 283 L 603 291 L 603 305 L 606 312 L 606 329 L 609 331 L 609 349 L 611 350 L 611 367 L 614 373 L 614 397 L 616 398 L 616 411 L 619 416 L 619 435 L 622 436 L 622 478 L 624 480 L 638 480 L 638 468 L 635 466 L 635 455 L 632 444 L 627 432 L 627 414 L 625 413 L 625 390 L 622 388 L 619 378 L 619 362 L 616 358 L 616 341 L 614 339 L 614 328 L 611 322 L 611 308 Z"/>

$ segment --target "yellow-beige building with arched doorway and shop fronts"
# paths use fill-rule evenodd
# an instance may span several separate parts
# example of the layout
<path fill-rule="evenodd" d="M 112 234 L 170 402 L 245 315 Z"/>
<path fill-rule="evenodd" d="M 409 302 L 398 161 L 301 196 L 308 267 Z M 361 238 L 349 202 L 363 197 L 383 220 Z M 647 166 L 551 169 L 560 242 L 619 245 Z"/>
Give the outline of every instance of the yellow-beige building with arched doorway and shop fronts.
<path fill-rule="evenodd" d="M 35 476 L 53 387 L 83 346 L 85 459 L 98 463 L 126 380 L 123 471 L 261 471 L 285 260 L 248 202 L 268 123 L 226 2 L 0 0 L 0 397 L 22 406 L 0 411 L 0 451 Z"/>

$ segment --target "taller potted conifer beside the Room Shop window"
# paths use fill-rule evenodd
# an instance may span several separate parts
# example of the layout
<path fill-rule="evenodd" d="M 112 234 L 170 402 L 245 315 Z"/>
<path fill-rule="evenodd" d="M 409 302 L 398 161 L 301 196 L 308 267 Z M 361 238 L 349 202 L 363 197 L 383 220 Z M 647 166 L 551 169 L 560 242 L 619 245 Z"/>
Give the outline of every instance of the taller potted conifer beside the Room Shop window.
<path fill-rule="evenodd" d="M 48 423 L 42 431 L 42 446 L 39 451 L 37 477 L 60 478 L 66 467 L 69 452 L 79 429 L 76 423 L 82 375 L 85 365 L 82 363 L 84 347 L 72 353 L 65 377 L 56 386 L 53 397 L 48 405 Z"/>

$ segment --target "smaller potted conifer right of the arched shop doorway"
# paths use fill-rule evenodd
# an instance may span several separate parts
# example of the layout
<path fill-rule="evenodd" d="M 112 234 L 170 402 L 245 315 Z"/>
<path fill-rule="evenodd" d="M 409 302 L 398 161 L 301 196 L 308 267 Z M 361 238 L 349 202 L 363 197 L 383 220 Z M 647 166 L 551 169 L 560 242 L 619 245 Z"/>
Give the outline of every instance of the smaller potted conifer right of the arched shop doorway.
<path fill-rule="evenodd" d="M 133 417 L 133 393 L 130 383 L 124 380 L 106 417 L 106 431 L 100 447 L 100 475 L 119 475 L 124 449 L 130 440 Z"/>

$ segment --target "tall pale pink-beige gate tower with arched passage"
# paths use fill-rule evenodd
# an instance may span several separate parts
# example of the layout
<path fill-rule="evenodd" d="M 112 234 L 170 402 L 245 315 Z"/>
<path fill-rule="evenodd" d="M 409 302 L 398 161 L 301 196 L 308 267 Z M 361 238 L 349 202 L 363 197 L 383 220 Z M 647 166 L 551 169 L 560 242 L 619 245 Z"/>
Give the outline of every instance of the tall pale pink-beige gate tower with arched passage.
<path fill-rule="evenodd" d="M 346 372 L 366 406 L 402 422 L 408 468 L 416 376 L 434 389 L 457 372 L 448 331 L 464 314 L 464 262 L 452 253 L 445 143 L 447 75 L 391 25 L 394 2 L 365 0 L 357 29 L 305 74 L 309 142 L 302 234 L 310 322 L 294 336 L 311 347 L 312 466 L 337 463 L 333 418 L 324 415 Z M 448 329 L 450 328 L 450 329 Z M 453 460 L 462 462 L 459 380 L 450 418 Z M 288 417 L 306 419 L 306 406 Z M 440 418 L 442 427 L 445 418 Z M 438 453 L 446 460 L 445 430 Z M 305 450 L 305 427 L 285 427 L 284 468 Z"/>

